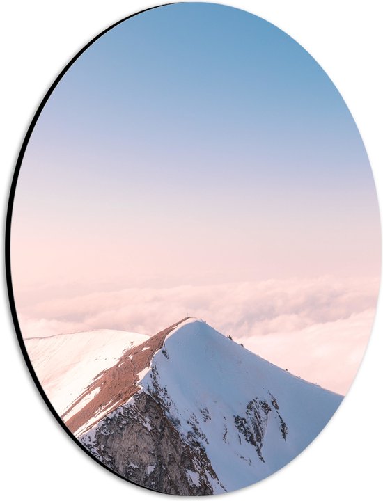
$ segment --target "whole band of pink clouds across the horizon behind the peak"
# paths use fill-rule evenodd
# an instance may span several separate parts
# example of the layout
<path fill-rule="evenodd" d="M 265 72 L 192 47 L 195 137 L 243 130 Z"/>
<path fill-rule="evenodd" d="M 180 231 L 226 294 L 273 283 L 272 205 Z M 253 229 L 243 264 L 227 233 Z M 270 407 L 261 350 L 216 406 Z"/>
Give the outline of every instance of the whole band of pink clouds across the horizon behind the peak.
<path fill-rule="evenodd" d="M 378 287 L 378 280 L 327 276 L 130 288 L 45 299 L 19 317 L 24 337 L 96 328 L 153 335 L 187 315 L 203 318 L 276 365 L 345 392 L 370 334 Z"/>

